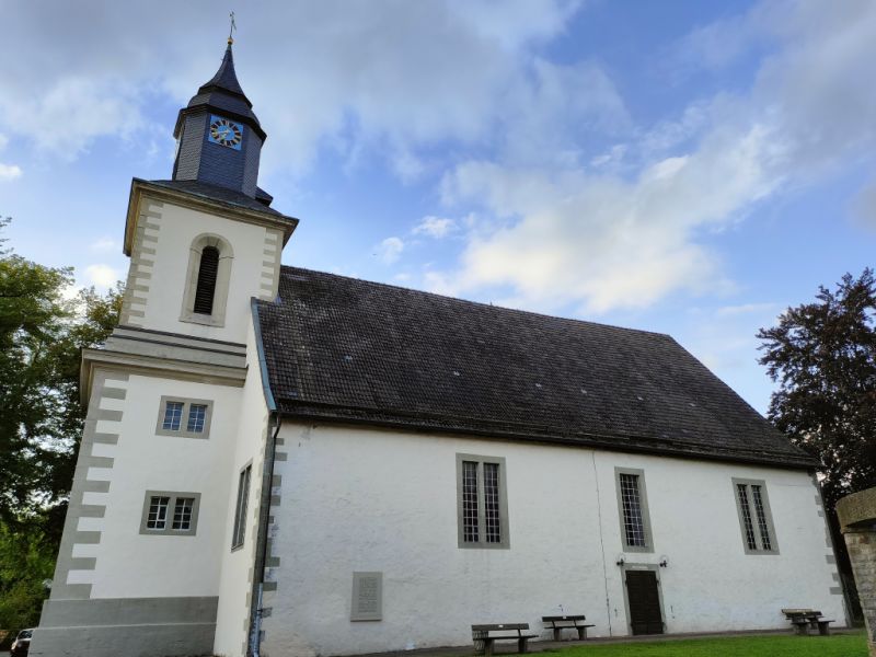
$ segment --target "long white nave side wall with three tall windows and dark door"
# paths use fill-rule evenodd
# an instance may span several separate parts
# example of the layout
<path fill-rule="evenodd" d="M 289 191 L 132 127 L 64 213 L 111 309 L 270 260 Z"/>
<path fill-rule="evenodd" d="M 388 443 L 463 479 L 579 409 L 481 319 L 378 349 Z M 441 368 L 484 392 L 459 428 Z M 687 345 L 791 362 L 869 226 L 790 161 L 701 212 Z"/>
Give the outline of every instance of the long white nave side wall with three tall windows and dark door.
<path fill-rule="evenodd" d="M 473 623 L 585 613 L 629 634 L 614 468 L 645 475 L 667 632 L 785 627 L 783 607 L 842 622 L 805 472 L 389 430 L 285 425 L 273 509 L 267 655 L 464 645 Z M 509 550 L 457 544 L 456 454 L 506 459 Z M 746 555 L 731 477 L 766 482 L 779 555 Z M 382 572 L 383 620 L 350 622 L 354 572 Z M 608 603 L 607 603 L 608 598 Z"/>

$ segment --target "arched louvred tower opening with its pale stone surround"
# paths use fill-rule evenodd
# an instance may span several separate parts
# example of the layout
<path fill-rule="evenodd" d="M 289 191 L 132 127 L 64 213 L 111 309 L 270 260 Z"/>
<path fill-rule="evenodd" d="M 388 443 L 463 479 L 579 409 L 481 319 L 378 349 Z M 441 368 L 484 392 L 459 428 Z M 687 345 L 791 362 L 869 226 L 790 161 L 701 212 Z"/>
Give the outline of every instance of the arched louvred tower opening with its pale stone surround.
<path fill-rule="evenodd" d="M 224 326 L 233 260 L 231 244 L 224 238 L 205 233 L 194 239 L 188 252 L 181 322 Z"/>

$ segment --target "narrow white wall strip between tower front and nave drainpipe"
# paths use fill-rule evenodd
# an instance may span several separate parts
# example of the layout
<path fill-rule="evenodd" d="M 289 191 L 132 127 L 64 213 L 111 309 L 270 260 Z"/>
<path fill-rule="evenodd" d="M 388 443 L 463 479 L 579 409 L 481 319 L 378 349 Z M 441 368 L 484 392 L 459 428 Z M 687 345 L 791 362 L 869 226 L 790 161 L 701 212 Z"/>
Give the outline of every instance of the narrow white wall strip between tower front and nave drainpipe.
<path fill-rule="evenodd" d="M 242 405 L 234 446 L 230 449 L 230 465 L 223 476 L 232 482 L 229 504 L 224 517 L 224 533 L 218 541 L 221 554 L 219 578 L 219 610 L 216 623 L 216 655 L 243 655 L 247 639 L 250 620 L 250 595 L 252 592 L 253 564 L 255 563 L 256 519 L 262 495 L 264 470 L 264 446 L 268 431 L 268 411 L 262 388 L 252 322 L 246 341 L 250 357 L 246 382 L 243 387 Z M 243 546 L 231 550 L 234 526 L 234 504 L 238 495 L 240 471 L 252 464 L 249 508 Z"/>

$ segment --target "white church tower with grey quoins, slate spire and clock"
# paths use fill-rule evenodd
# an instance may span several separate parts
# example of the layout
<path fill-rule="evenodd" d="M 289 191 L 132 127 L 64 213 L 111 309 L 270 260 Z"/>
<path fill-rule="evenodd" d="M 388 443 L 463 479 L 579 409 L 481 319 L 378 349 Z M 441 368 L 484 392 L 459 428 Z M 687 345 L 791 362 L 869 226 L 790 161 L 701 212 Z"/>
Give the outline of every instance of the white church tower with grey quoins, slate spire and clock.
<path fill-rule="evenodd" d="M 266 134 L 234 71 L 178 113 L 169 180 L 134 178 L 119 324 L 83 353 L 88 415 L 31 654 L 243 655 L 269 413 L 253 301 L 298 220 L 257 186 Z"/>

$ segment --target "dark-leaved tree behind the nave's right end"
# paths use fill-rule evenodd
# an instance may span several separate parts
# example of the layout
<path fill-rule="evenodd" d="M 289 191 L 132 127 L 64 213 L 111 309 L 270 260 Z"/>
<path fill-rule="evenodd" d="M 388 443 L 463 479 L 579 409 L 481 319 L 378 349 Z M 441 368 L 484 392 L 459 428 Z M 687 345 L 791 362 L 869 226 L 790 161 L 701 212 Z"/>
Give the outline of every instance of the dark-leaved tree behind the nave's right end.
<path fill-rule="evenodd" d="M 821 462 L 828 507 L 876 485 L 876 280 L 872 269 L 789 308 L 758 334 L 779 382 L 770 419 Z"/>

